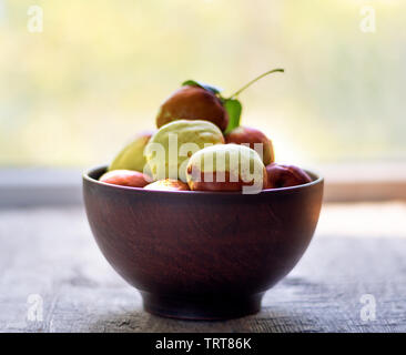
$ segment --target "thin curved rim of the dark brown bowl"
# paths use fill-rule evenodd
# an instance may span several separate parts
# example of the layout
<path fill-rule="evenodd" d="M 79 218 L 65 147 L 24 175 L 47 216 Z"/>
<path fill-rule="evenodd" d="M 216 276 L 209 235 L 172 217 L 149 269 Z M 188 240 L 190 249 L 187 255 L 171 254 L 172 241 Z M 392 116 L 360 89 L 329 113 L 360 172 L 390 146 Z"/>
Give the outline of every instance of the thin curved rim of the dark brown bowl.
<path fill-rule="evenodd" d="M 276 193 L 283 193 L 287 191 L 298 191 L 303 189 L 311 187 L 313 185 L 317 185 L 324 182 L 324 178 L 318 173 L 315 172 L 313 169 L 303 169 L 306 173 L 308 173 L 311 176 L 314 176 L 315 179 L 311 182 L 307 182 L 302 185 L 295 185 L 295 186 L 288 186 L 288 187 L 278 187 L 278 189 L 264 189 L 261 190 L 260 193 L 256 194 L 242 194 L 241 191 L 162 191 L 162 190 L 145 190 L 143 187 L 131 187 L 131 186 L 123 186 L 123 185 L 114 185 L 109 184 L 105 182 L 101 182 L 99 180 L 95 180 L 90 176 L 91 173 L 98 171 L 98 170 L 106 170 L 109 165 L 97 165 L 91 169 L 85 170 L 82 173 L 83 181 L 88 181 L 92 184 L 104 186 L 112 190 L 118 191 L 129 191 L 129 192 L 139 192 L 139 193 L 145 193 L 145 194 L 176 194 L 176 195 L 187 195 L 187 194 L 200 194 L 200 195 L 260 195 L 260 194 L 276 194 Z"/>

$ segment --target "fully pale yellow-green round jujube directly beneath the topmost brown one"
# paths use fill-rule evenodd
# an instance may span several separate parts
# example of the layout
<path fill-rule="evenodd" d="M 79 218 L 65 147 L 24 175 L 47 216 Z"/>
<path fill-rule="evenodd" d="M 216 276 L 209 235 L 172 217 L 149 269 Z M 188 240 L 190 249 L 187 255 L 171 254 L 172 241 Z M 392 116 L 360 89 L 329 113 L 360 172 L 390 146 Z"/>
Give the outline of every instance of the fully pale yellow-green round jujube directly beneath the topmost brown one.
<path fill-rule="evenodd" d="M 189 159 L 199 150 L 224 144 L 224 136 L 212 122 L 177 120 L 163 126 L 145 146 L 145 158 L 154 180 L 186 181 Z"/>

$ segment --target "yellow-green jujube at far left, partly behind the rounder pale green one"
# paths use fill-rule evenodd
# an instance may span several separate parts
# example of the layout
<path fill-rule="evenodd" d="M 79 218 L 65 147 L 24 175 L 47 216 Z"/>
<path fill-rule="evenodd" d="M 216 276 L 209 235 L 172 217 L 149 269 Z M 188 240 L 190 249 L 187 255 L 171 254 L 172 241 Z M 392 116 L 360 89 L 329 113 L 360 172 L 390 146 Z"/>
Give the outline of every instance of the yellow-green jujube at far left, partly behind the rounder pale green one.
<path fill-rule="evenodd" d="M 124 149 L 114 158 L 109 166 L 112 170 L 135 170 L 144 172 L 146 159 L 144 158 L 144 149 L 150 141 L 153 132 L 140 133 L 134 141 L 124 146 Z"/>

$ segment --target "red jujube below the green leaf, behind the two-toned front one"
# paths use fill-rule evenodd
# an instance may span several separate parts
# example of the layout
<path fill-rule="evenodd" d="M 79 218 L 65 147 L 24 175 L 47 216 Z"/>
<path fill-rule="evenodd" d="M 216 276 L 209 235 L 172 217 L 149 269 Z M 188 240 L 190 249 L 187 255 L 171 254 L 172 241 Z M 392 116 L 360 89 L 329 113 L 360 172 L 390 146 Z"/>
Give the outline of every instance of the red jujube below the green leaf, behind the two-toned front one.
<path fill-rule="evenodd" d="M 263 162 L 265 165 L 271 164 L 275 160 L 274 148 L 272 141 L 261 131 L 248 128 L 248 126 L 237 126 L 230 133 L 225 134 L 226 143 L 235 143 L 235 144 L 250 144 L 251 149 L 255 149 L 255 143 L 263 144 L 263 152 L 261 150 L 257 151 L 260 155 L 262 155 Z"/>

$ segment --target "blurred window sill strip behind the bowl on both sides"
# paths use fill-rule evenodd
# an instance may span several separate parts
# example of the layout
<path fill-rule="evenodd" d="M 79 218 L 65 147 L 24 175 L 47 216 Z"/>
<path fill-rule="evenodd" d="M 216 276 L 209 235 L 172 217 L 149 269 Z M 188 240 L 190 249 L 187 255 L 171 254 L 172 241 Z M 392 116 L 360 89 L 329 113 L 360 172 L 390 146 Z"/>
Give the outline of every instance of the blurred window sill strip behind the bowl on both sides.
<path fill-rule="evenodd" d="M 406 163 L 322 165 L 324 201 L 406 201 Z M 80 169 L 0 169 L 0 207 L 82 203 Z"/>

